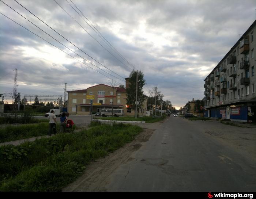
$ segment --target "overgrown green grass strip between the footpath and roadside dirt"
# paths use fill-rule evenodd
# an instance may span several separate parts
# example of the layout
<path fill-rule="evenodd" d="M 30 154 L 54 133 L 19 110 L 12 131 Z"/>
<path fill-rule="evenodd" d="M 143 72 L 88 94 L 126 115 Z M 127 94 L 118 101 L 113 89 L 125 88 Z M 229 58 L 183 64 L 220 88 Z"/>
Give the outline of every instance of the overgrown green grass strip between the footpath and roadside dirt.
<path fill-rule="evenodd" d="M 142 128 L 114 123 L 0 147 L 0 191 L 61 191 L 85 165 L 131 142 Z"/>

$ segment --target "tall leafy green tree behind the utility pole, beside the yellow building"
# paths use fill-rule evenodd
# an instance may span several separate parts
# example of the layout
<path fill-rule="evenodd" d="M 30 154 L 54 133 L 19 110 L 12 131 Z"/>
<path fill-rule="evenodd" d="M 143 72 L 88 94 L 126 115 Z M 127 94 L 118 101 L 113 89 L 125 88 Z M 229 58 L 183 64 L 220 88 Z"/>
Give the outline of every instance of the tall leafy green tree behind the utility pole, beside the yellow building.
<path fill-rule="evenodd" d="M 138 71 L 132 70 L 129 77 L 129 87 L 126 88 L 127 95 L 127 105 L 135 111 L 136 107 L 136 73 Z M 137 108 L 143 107 L 143 102 L 146 96 L 143 94 L 143 86 L 146 84 L 146 80 L 144 80 L 144 74 L 142 71 L 138 72 L 138 104 Z M 138 111 L 138 110 L 137 110 Z"/>

